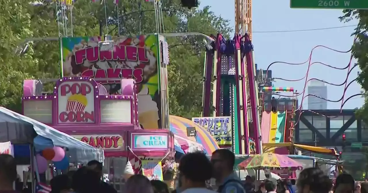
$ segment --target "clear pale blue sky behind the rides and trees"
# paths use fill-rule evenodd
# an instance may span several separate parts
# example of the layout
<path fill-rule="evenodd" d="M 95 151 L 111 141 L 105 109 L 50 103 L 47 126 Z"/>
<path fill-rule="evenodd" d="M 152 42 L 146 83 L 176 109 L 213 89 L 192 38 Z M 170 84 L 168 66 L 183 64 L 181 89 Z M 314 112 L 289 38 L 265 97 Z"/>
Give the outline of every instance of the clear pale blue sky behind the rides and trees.
<path fill-rule="evenodd" d="M 216 15 L 221 15 L 230 20 L 231 26 L 234 26 L 235 12 L 233 3 L 223 3 L 222 0 L 201 0 L 200 8 L 210 6 L 210 10 Z M 278 32 L 269 31 L 293 31 L 304 29 L 330 28 L 347 25 L 357 25 L 358 21 L 353 20 L 348 23 L 340 22 L 338 17 L 342 16 L 342 10 L 328 9 L 292 9 L 289 6 L 289 0 L 253 0 L 252 2 L 252 43 L 254 45 L 255 63 L 258 68 L 267 69 L 268 65 L 275 61 L 289 63 L 301 63 L 308 60 L 313 47 L 323 45 L 339 51 L 348 51 L 353 44 L 354 26 L 337 29 L 326 29 L 304 32 Z M 259 33 L 259 32 L 268 33 Z M 258 32 L 258 33 L 257 33 Z M 346 67 L 350 61 L 351 53 L 338 53 L 326 48 L 318 47 L 312 53 L 311 62 L 323 62 L 334 67 Z M 353 59 L 352 64 L 356 60 Z M 273 64 L 270 67 L 274 78 L 300 79 L 307 72 L 308 64 L 288 65 L 282 63 Z M 351 72 L 349 82 L 356 78 L 358 67 Z M 314 64 L 309 69 L 309 78 L 319 78 L 326 82 L 335 84 L 343 83 L 346 79 L 347 69 L 339 70 Z M 303 81 L 289 82 L 280 81 L 274 83 L 274 86 L 289 86 L 302 92 L 305 85 Z M 344 91 L 344 86 L 328 85 L 328 99 L 339 100 Z M 352 83 L 345 95 L 349 96 L 361 92 L 361 86 Z M 305 92 L 307 93 L 307 92 Z M 285 93 L 288 95 L 288 93 Z M 302 97 L 299 97 L 299 105 Z M 364 100 L 361 97 L 354 97 L 348 100 L 344 109 L 353 109 L 361 107 Z M 303 109 L 307 109 L 307 98 L 303 101 Z M 328 102 L 328 109 L 340 109 L 340 102 Z"/>

